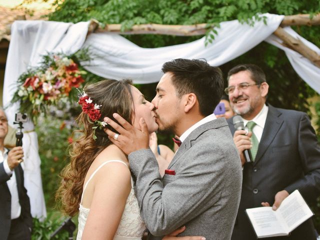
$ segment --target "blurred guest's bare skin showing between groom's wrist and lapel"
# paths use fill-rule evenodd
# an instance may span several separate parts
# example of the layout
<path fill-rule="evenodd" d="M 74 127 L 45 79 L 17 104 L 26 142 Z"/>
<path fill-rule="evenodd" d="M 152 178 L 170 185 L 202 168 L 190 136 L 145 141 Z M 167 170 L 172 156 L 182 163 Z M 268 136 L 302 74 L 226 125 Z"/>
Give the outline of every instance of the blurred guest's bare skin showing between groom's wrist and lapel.
<path fill-rule="evenodd" d="M 166 145 L 158 145 L 155 132 L 152 132 L 149 135 L 149 147 L 154 153 L 155 158 L 159 164 L 160 175 L 163 176 L 164 170 L 168 167 L 174 156 L 174 152 Z"/>

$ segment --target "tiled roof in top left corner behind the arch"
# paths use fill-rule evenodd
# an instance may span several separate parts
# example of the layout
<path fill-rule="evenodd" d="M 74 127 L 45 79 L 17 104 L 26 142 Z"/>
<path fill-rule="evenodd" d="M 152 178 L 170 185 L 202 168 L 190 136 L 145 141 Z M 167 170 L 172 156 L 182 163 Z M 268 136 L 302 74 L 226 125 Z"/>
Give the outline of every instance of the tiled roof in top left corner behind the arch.
<path fill-rule="evenodd" d="M 47 14 L 49 10 L 30 10 L 30 9 L 11 9 L 7 7 L 0 6 L 0 41 L 2 39 L 10 40 L 10 35 L 7 34 L 7 28 L 15 20 L 46 20 L 43 17 Z"/>

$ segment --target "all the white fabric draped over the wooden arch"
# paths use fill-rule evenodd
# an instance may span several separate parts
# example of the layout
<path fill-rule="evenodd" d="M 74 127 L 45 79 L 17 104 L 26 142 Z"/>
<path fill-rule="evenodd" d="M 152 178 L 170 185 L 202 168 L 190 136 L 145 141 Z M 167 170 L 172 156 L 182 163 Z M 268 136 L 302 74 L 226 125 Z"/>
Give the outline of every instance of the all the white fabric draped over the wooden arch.
<path fill-rule="evenodd" d="M 283 49 L 299 76 L 320 93 L 320 68 L 299 53 L 281 45 L 281 40 L 272 35 L 283 15 L 263 14 L 267 24 L 255 22 L 254 26 L 241 24 L 237 20 L 220 23 L 218 34 L 212 43 L 205 46 L 202 37 L 193 42 L 158 47 L 142 48 L 126 38 L 112 33 L 91 33 L 86 37 L 89 22 L 76 24 L 53 21 L 15 21 L 11 27 L 4 75 L 3 104 L 9 123 L 14 120 L 18 104 L 10 105 L 16 90 L 16 80 L 29 66 L 37 66 L 46 52 L 72 53 L 81 47 L 90 47 L 94 59 L 85 68 L 105 78 L 131 78 L 134 83 L 157 82 L 162 73 L 161 65 L 174 58 L 205 58 L 211 65 L 221 65 L 250 50 L 265 40 Z M 306 45 L 320 54 L 320 49 L 308 42 L 291 28 L 285 30 L 299 37 Z M 31 121 L 24 130 L 32 131 Z M 54 136 L 52 136 L 54 138 Z M 40 159 L 35 132 L 23 137 L 25 152 L 25 186 L 31 199 L 33 216 L 45 216 L 45 205 L 40 178 Z"/>

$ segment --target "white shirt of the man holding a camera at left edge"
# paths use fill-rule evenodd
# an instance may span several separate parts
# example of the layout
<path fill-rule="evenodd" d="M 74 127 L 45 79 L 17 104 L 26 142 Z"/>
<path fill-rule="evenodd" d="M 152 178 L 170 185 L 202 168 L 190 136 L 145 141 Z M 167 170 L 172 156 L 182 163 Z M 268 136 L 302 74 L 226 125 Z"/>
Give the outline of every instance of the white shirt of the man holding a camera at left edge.
<path fill-rule="evenodd" d="M 8 176 L 11 175 L 10 179 L 6 181 L 6 184 L 9 188 L 11 194 L 11 219 L 18 218 L 21 213 L 21 205 L 19 203 L 19 195 L 18 195 L 18 188 L 16 184 L 16 178 L 14 171 L 11 171 L 8 163 L 8 149 L 4 148 L 4 152 L 0 151 L 0 163 L 3 161 L 4 171 Z"/>

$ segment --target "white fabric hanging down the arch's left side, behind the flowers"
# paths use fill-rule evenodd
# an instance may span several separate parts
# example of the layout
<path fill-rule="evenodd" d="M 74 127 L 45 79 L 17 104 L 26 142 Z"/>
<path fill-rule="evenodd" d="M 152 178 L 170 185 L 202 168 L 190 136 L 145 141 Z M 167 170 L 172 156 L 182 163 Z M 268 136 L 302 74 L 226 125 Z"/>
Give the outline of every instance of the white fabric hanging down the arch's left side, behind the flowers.
<path fill-rule="evenodd" d="M 41 55 L 46 52 L 75 52 L 83 44 L 87 33 L 88 22 L 77 24 L 47 21 L 15 21 L 11 26 L 11 40 L 4 73 L 3 106 L 8 123 L 12 127 L 18 104 L 10 104 L 16 90 L 18 76 L 28 66 L 37 66 Z M 29 120 L 23 124 L 22 146 L 24 161 L 24 185 L 30 198 L 33 217 L 46 216 L 45 202 L 40 174 L 40 157 L 38 154 L 37 135 L 34 125 Z M 52 136 L 54 140 L 54 136 Z M 41 146 L 40 146 L 41 147 Z M 53 192 L 52 192 L 53 194 Z"/>

